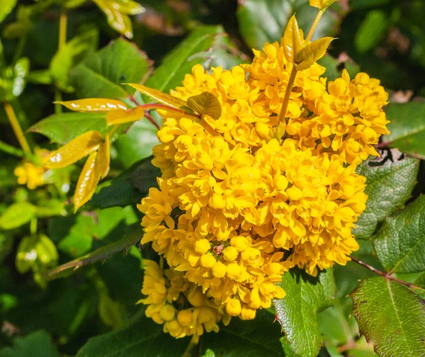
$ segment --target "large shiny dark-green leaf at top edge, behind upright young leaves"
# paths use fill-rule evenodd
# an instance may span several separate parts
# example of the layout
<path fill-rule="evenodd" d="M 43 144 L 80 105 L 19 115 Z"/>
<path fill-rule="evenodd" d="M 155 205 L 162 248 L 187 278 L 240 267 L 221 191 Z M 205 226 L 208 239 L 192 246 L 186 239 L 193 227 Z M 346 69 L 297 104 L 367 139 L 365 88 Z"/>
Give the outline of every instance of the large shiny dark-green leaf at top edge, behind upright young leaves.
<path fill-rule="evenodd" d="M 266 42 L 280 41 L 291 16 L 297 13 L 300 28 L 307 33 L 317 15 L 308 0 L 244 0 L 239 1 L 239 31 L 249 47 L 261 50 Z M 313 39 L 332 35 L 339 20 L 327 10 L 319 22 Z"/>

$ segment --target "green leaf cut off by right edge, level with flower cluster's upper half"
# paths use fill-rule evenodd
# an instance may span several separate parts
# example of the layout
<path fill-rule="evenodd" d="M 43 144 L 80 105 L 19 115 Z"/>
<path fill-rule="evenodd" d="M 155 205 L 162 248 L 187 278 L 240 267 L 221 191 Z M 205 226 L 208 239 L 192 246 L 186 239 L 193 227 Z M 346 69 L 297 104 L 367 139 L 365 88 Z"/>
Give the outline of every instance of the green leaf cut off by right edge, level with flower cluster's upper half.
<path fill-rule="evenodd" d="M 390 103 L 385 111 L 389 135 L 382 141 L 416 157 L 425 157 L 425 103 Z"/>

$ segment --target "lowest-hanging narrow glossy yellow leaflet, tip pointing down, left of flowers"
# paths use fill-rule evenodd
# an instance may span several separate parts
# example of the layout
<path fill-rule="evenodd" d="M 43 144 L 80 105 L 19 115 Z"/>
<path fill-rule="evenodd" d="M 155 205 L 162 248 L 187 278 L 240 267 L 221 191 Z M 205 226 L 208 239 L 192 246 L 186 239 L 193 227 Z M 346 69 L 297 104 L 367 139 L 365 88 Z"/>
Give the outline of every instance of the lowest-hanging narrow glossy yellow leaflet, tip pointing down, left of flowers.
<path fill-rule="evenodd" d="M 99 172 L 99 162 L 97 160 L 98 153 L 90 154 L 77 182 L 77 188 L 74 193 L 74 212 L 84 205 L 91 196 L 93 196 L 96 186 L 101 179 Z"/>

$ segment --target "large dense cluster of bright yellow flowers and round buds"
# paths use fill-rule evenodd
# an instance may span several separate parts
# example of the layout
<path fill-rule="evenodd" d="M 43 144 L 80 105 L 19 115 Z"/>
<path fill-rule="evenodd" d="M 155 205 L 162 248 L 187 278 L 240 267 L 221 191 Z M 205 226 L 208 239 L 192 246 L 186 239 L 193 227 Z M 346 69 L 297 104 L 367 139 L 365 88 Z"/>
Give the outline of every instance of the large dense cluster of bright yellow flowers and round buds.
<path fill-rule="evenodd" d="M 164 278 L 148 262 L 142 293 L 149 297 L 142 302 L 176 337 L 199 335 L 201 324 L 215 331 L 229 316 L 253 319 L 285 296 L 276 285 L 285 271 L 299 266 L 315 276 L 335 262 L 344 265 L 358 249 L 351 229 L 367 196 L 356 166 L 377 155 L 373 145 L 387 133 L 387 93 L 364 73 L 351 80 L 344 71 L 327 83 L 324 67 L 313 64 L 297 73 L 282 123 L 293 64 L 278 42 L 254 55 L 231 71 L 196 65 L 171 93 L 183 100 L 214 94 L 221 116 L 205 120 L 220 135 L 162 112 L 152 161 L 162 177 L 138 208 L 145 214 L 142 244 L 152 242 L 169 269 Z M 185 286 L 179 297 L 174 279 Z M 200 322 L 189 291 L 210 309 L 208 324 Z M 191 317 L 179 319 L 188 309 Z"/>

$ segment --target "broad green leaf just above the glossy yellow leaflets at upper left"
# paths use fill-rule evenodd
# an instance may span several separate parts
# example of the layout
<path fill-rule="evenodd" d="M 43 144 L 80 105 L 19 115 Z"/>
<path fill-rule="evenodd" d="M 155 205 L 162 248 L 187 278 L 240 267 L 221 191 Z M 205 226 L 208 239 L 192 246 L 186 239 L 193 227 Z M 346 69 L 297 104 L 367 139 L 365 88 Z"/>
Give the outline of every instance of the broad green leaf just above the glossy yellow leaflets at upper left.
<path fill-rule="evenodd" d="M 72 69 L 69 76 L 79 98 L 118 98 L 133 94 L 124 83 L 140 83 L 152 62 L 135 44 L 119 38 Z"/>

